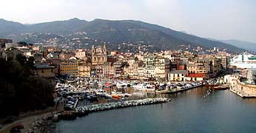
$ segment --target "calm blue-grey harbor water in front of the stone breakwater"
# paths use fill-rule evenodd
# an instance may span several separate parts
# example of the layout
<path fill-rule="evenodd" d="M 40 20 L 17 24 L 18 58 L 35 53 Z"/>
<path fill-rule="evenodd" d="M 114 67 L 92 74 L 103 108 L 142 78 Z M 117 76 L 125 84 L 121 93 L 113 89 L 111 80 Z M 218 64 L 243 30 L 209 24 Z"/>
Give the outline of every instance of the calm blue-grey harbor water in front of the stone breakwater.
<path fill-rule="evenodd" d="M 198 87 L 161 95 L 171 98 L 169 103 L 112 109 L 76 120 L 61 120 L 56 132 L 256 132 L 256 99 L 242 99 L 229 90 L 209 92 L 209 89 Z M 146 96 L 141 93 L 141 97 Z"/>

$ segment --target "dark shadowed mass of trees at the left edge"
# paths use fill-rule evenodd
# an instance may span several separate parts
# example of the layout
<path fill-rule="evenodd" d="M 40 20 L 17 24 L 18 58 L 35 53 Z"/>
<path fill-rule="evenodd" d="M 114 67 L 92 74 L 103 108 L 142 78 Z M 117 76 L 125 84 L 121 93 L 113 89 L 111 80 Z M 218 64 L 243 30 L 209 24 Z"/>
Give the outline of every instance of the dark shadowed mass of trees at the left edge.
<path fill-rule="evenodd" d="M 0 58 L 0 117 L 53 106 L 53 84 L 33 75 L 33 58 Z"/>

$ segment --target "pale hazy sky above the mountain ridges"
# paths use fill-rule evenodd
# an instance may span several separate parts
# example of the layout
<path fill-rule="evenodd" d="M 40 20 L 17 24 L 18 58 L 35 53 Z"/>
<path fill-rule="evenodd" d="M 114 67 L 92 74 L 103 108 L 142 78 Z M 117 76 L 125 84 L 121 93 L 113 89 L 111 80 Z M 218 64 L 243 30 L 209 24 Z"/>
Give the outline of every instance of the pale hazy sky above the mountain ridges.
<path fill-rule="evenodd" d="M 1 0 L 0 18 L 23 24 L 134 19 L 201 37 L 256 42 L 256 0 Z"/>

